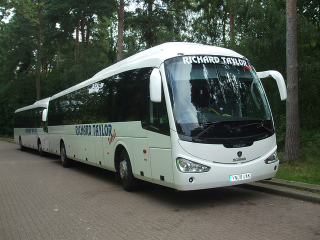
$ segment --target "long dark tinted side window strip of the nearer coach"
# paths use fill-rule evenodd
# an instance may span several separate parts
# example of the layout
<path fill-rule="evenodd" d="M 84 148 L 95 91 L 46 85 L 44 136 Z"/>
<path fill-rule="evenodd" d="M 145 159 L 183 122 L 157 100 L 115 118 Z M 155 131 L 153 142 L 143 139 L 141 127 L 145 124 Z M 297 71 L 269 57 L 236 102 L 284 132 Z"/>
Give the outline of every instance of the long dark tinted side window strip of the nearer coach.
<path fill-rule="evenodd" d="M 48 125 L 145 122 L 151 70 L 122 72 L 51 100 Z"/>

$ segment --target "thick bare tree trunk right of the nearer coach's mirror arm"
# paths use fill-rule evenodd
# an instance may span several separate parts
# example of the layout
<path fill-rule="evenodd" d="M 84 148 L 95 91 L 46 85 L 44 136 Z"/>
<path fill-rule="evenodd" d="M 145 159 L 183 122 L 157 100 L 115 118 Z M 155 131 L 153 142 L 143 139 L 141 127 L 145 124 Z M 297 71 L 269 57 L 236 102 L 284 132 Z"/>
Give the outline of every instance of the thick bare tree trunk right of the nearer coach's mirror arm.
<path fill-rule="evenodd" d="M 286 0 L 286 135 L 284 162 L 300 158 L 296 0 Z"/>

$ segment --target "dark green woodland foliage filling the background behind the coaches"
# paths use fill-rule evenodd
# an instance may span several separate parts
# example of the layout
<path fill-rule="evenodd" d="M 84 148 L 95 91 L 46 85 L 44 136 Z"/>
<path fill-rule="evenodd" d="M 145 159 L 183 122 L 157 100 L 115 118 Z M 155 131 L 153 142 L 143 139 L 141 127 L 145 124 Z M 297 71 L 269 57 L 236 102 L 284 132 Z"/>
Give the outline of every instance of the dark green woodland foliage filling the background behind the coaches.
<path fill-rule="evenodd" d="M 42 8 L 44 98 L 115 62 L 115 3 L 115 0 L 0 0 L 0 133 L 11 133 L 14 110 L 32 104 L 36 98 L 37 9 Z M 126 9 L 124 16 L 124 58 L 167 41 L 228 47 L 232 9 L 235 50 L 246 56 L 257 71 L 273 69 L 286 77 L 285 0 L 137 0 L 134 5 L 132 11 Z M 297 7 L 301 148 L 318 149 L 320 13 L 314 9 L 319 8 L 319 3 L 302 0 Z M 8 9 L 14 9 L 14 14 L 9 21 L 1 21 L 9 14 Z M 285 102 L 280 101 L 273 79 L 263 79 L 262 84 L 281 150 L 285 139 Z"/>

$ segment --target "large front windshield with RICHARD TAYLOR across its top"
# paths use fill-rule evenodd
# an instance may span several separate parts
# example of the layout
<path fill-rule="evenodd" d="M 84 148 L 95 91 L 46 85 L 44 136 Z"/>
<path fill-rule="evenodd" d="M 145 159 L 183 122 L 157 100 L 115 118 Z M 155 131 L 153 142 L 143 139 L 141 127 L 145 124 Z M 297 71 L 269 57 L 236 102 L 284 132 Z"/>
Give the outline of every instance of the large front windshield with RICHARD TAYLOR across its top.
<path fill-rule="evenodd" d="M 164 67 L 180 139 L 253 143 L 274 134 L 261 82 L 246 59 L 179 56 Z"/>

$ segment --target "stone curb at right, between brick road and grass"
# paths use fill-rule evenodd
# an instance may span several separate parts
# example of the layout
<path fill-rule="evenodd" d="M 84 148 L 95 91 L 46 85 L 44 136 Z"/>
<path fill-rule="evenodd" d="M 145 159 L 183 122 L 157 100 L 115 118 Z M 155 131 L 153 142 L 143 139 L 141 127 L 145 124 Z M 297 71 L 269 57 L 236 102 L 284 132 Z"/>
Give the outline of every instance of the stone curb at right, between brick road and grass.
<path fill-rule="evenodd" d="M 272 180 L 251 182 L 238 186 L 255 191 L 295 198 L 303 201 L 310 201 L 317 204 L 320 203 L 320 194 L 316 193 L 320 192 L 320 185 L 273 178 Z M 304 190 L 294 189 L 295 187 L 303 188 Z"/>

